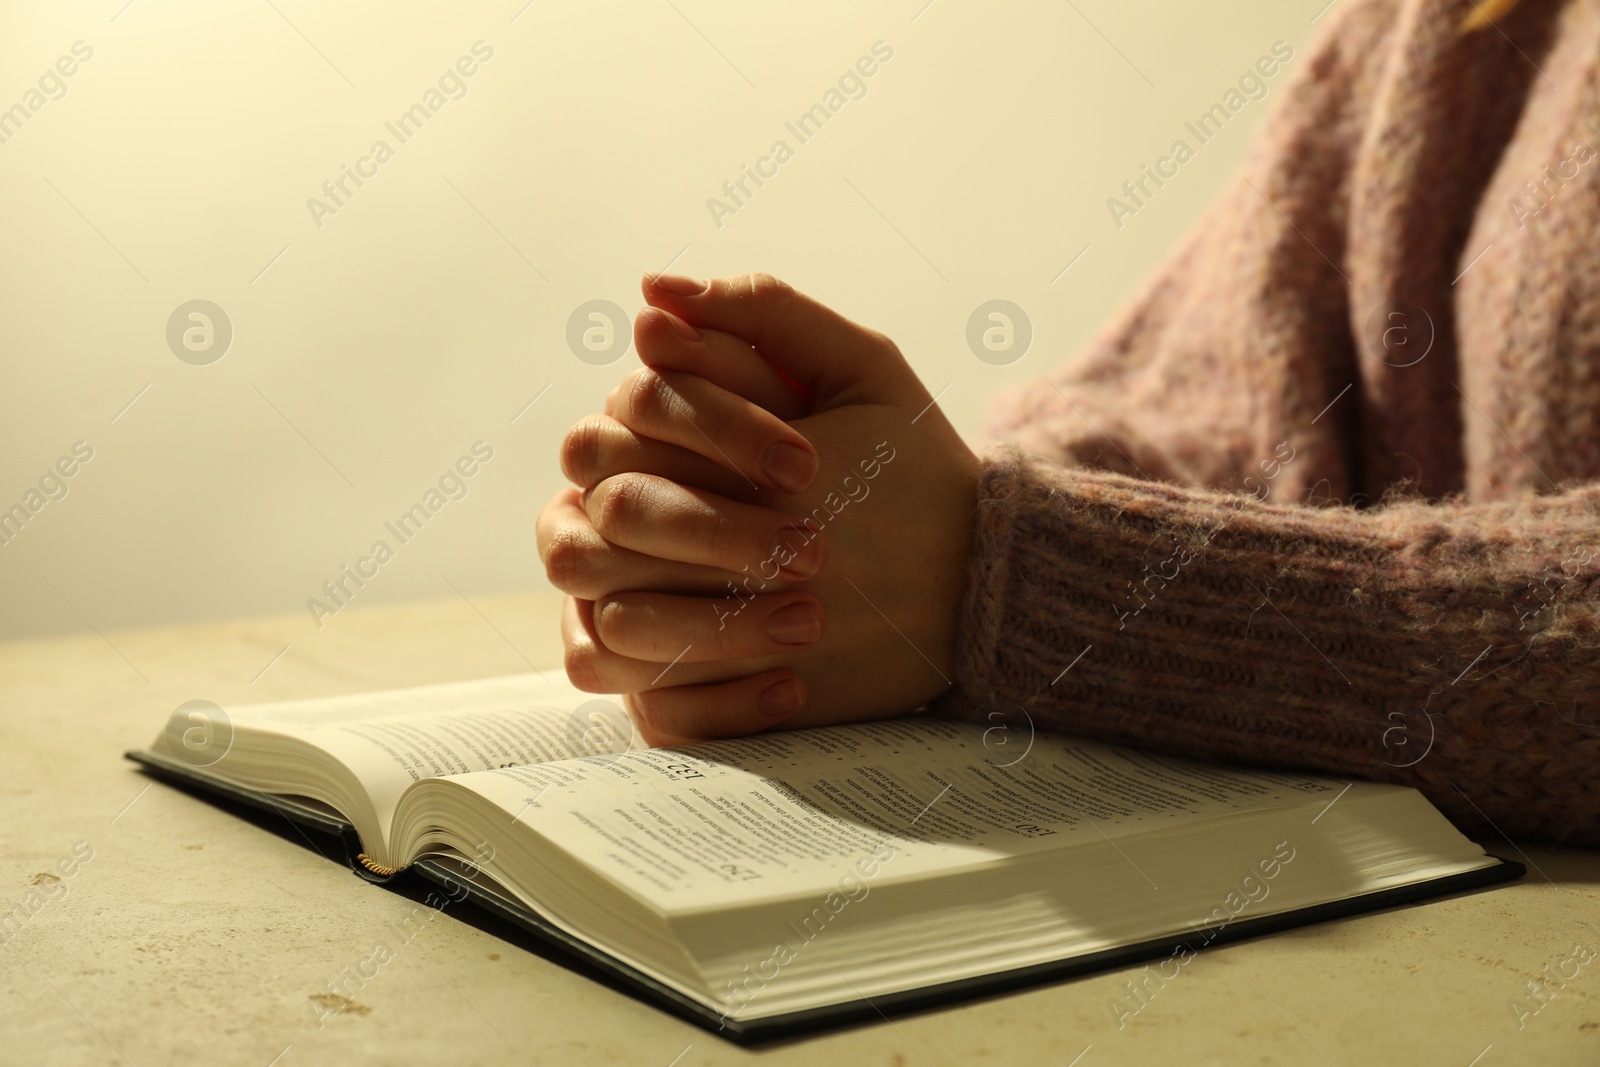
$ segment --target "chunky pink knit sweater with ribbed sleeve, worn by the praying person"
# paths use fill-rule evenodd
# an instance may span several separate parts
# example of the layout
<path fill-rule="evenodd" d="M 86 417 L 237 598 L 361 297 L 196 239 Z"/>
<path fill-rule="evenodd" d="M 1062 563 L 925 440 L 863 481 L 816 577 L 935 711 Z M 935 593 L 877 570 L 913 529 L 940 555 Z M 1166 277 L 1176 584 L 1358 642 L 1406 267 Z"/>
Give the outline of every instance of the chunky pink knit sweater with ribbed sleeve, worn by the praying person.
<path fill-rule="evenodd" d="M 1600 3 L 1344 0 L 1237 178 L 997 408 L 939 712 L 1600 846 Z"/>

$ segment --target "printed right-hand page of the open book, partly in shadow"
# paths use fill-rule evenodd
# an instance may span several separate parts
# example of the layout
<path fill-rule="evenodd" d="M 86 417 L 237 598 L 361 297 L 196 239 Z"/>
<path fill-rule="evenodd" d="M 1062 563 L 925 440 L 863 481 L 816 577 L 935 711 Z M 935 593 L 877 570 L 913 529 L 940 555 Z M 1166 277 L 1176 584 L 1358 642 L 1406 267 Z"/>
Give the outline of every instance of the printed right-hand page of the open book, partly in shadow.
<path fill-rule="evenodd" d="M 1344 785 L 1043 734 L 1018 758 L 989 741 L 912 717 L 456 781 L 664 910 L 814 893 L 867 857 L 925 877 Z"/>

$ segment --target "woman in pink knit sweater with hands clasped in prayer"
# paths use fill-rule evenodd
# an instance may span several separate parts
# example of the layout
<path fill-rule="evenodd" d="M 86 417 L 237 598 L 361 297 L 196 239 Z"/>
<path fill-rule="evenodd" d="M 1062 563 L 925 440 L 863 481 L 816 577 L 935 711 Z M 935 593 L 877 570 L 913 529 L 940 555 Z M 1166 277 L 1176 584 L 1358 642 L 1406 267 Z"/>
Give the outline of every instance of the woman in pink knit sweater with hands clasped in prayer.
<path fill-rule="evenodd" d="M 1600 3 L 1326 18 L 984 459 L 882 334 L 646 278 L 539 523 L 574 683 L 653 741 L 931 702 L 1600 845 Z"/>

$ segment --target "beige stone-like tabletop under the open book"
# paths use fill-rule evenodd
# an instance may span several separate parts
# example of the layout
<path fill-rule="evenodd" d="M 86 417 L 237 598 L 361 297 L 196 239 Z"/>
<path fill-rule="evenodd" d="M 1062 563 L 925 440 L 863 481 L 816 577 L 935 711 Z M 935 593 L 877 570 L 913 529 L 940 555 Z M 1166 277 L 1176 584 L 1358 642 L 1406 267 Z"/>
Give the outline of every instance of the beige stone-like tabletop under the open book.
<path fill-rule="evenodd" d="M 187 699 L 555 664 L 554 619 L 530 595 L 0 645 L 0 912 L 53 897 L 0 928 L 0 1062 L 1600 1064 L 1600 958 L 1518 1027 L 1528 981 L 1600 950 L 1600 854 L 1546 848 L 1501 889 L 1203 950 L 1123 1029 L 1109 1001 L 1131 971 L 741 1049 L 448 909 L 318 1029 L 312 995 L 418 904 L 120 753 Z M 74 846 L 93 857 L 42 877 Z"/>

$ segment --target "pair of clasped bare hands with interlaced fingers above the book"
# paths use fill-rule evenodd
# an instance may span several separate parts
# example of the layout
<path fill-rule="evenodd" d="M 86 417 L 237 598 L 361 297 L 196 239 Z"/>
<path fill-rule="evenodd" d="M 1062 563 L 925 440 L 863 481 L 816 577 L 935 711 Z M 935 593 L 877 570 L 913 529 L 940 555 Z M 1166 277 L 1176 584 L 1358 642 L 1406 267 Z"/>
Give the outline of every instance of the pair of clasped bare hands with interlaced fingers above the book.
<path fill-rule="evenodd" d="M 566 673 L 650 744 L 880 718 L 952 685 L 978 461 L 894 342 L 763 274 L 645 277 L 643 368 L 539 514 Z"/>

